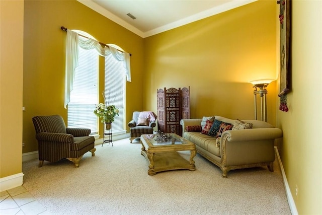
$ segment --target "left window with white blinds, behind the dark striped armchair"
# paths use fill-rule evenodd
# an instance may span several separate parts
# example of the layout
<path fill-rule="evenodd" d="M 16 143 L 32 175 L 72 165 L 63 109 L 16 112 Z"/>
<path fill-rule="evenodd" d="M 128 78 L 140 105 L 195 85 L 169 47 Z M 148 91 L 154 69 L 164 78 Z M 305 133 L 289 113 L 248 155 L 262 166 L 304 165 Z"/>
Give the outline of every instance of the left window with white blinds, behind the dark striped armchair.
<path fill-rule="evenodd" d="M 98 104 L 98 53 L 79 47 L 78 66 L 67 106 L 67 126 L 90 128 L 98 133 L 98 117 L 93 113 Z"/>

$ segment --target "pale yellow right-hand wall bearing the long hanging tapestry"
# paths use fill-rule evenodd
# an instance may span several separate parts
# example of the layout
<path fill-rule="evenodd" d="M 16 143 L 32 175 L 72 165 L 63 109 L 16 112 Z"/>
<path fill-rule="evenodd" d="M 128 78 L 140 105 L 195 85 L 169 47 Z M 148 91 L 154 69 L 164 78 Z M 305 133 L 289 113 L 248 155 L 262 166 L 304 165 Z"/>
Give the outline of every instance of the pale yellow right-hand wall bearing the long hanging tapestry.
<path fill-rule="evenodd" d="M 292 1 L 289 111 L 277 113 L 282 163 L 299 214 L 322 213 L 321 11 L 321 1 Z"/>

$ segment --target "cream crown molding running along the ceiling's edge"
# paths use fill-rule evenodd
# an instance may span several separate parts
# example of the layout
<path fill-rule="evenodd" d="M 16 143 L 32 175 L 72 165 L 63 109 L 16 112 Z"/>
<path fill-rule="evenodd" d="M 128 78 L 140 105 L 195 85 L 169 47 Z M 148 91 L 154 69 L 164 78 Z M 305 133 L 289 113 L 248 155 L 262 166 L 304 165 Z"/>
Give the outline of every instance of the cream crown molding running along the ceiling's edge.
<path fill-rule="evenodd" d="M 114 14 L 112 14 L 111 12 L 109 12 L 108 10 L 104 9 L 102 6 L 94 3 L 91 0 L 77 0 L 77 1 L 79 3 L 82 3 L 83 5 L 91 8 L 92 10 L 96 11 L 97 13 L 105 16 L 106 18 L 112 20 L 113 22 L 119 24 L 120 26 L 126 28 L 127 30 L 133 32 L 134 34 L 136 34 L 142 38 L 145 38 L 145 37 L 153 36 L 155 34 L 162 33 L 162 32 L 174 29 L 174 28 L 178 28 L 180 26 L 183 26 L 183 25 L 213 16 L 216 14 L 223 13 L 225 11 L 229 11 L 234 8 L 238 8 L 240 6 L 244 6 L 244 5 L 256 2 L 258 0 L 234 0 L 232 2 L 228 2 L 224 5 L 211 8 L 209 10 L 200 12 L 200 13 L 195 14 L 193 16 L 178 20 L 173 23 L 169 23 L 164 26 L 160 26 L 158 28 L 155 28 L 155 29 L 152 29 L 152 30 L 146 31 L 146 32 L 140 31 L 139 29 L 135 28 L 131 24 L 129 24 L 129 23 L 125 22 L 124 20 L 120 19 L 119 17 L 115 16 Z"/>

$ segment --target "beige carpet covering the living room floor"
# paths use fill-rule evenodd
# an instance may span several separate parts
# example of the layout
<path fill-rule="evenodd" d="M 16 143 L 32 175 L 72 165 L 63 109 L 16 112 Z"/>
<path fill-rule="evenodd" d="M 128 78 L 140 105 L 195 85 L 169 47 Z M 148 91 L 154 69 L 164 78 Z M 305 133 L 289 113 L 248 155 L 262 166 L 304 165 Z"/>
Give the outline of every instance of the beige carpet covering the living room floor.
<path fill-rule="evenodd" d="M 97 145 L 79 168 L 68 160 L 23 163 L 23 186 L 52 214 L 291 214 L 277 162 L 228 172 L 200 155 L 196 171 L 147 174 L 138 140 Z M 187 152 L 182 153 L 189 156 Z"/>

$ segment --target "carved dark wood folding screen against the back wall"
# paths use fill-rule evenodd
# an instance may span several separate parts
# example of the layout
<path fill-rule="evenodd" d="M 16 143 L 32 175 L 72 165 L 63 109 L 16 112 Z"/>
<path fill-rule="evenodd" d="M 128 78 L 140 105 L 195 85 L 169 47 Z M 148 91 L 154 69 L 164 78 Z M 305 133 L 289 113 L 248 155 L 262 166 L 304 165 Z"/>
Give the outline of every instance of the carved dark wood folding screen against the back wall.
<path fill-rule="evenodd" d="M 164 133 L 182 135 L 181 119 L 190 118 L 190 89 L 157 90 L 157 126 Z"/>

